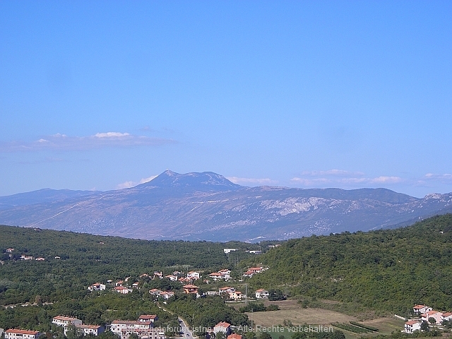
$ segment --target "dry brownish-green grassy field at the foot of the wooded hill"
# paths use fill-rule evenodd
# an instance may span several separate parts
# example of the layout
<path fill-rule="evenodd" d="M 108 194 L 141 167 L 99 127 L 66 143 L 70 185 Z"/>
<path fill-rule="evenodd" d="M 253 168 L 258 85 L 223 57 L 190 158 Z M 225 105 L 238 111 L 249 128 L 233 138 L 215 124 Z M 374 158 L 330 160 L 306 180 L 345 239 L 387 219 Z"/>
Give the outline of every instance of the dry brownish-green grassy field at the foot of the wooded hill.
<path fill-rule="evenodd" d="M 319 308 L 303 308 L 296 300 L 285 300 L 282 302 L 265 302 L 268 304 L 277 304 L 280 307 L 279 311 L 268 312 L 254 312 L 247 313 L 254 325 L 258 326 L 283 326 L 287 321 L 290 321 L 294 326 L 298 325 L 323 325 L 329 326 L 331 323 L 348 323 L 349 321 L 359 321 L 355 316 L 340 313 L 338 311 L 331 311 L 328 309 Z M 403 321 L 393 317 L 377 318 L 367 321 L 359 321 L 360 323 L 379 329 L 378 333 L 358 334 L 349 331 L 343 331 L 346 339 L 357 339 L 362 336 L 375 336 L 379 334 L 388 335 L 393 331 L 401 331 L 403 329 Z M 335 328 L 337 330 L 339 328 Z M 274 339 L 284 336 L 286 339 L 291 338 L 292 333 L 288 331 L 270 333 Z"/>

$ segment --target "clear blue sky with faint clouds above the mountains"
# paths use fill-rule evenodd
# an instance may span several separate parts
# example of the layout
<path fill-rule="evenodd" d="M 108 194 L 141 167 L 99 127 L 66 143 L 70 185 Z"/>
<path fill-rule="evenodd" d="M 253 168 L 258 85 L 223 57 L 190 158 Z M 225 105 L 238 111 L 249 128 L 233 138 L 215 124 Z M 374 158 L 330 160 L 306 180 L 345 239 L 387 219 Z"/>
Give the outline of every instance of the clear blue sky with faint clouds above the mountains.
<path fill-rule="evenodd" d="M 452 191 L 451 1 L 1 1 L 0 196 L 174 172 Z"/>

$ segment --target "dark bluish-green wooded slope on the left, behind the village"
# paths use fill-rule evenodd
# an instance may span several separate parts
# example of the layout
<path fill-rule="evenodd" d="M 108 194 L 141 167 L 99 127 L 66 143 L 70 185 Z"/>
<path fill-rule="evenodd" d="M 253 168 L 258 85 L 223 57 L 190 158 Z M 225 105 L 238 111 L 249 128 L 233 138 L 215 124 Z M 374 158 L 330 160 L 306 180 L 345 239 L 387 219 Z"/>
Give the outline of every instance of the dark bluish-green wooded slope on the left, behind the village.
<path fill-rule="evenodd" d="M 201 268 L 208 273 L 253 254 L 223 248 L 258 249 L 255 244 L 148 241 L 0 225 L 0 305 L 83 299 L 86 287 L 163 270 Z M 6 249 L 13 249 L 8 253 Z M 20 260 L 21 255 L 44 261 Z M 11 255 L 11 256 L 10 256 Z M 232 265 L 233 266 L 233 265 Z"/>

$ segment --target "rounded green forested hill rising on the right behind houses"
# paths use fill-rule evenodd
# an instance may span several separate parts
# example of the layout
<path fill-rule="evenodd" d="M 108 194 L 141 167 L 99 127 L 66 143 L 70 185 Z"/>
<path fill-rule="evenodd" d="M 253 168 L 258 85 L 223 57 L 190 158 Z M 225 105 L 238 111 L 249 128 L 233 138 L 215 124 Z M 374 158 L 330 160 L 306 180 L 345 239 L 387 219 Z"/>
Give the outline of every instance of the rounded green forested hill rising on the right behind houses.
<path fill-rule="evenodd" d="M 293 239 L 258 261 L 269 269 L 250 279 L 256 288 L 403 314 L 414 304 L 452 309 L 452 214 L 396 230 Z"/>

